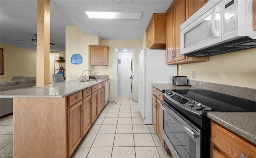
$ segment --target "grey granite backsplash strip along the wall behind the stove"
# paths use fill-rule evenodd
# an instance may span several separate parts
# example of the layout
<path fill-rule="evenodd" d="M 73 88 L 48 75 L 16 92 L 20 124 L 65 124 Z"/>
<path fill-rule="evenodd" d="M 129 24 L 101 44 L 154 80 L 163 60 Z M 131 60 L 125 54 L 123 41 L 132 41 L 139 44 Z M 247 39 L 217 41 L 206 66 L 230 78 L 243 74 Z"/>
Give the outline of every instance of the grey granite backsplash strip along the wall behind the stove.
<path fill-rule="evenodd" d="M 213 92 L 218 92 L 218 93 L 235 96 L 235 97 L 243 98 L 247 100 L 252 100 L 256 102 L 256 89 L 254 88 L 230 86 L 226 84 L 216 84 L 216 83 L 195 81 L 195 80 L 189 80 L 189 79 L 188 79 L 188 84 L 191 85 L 192 87 L 210 90 Z"/>

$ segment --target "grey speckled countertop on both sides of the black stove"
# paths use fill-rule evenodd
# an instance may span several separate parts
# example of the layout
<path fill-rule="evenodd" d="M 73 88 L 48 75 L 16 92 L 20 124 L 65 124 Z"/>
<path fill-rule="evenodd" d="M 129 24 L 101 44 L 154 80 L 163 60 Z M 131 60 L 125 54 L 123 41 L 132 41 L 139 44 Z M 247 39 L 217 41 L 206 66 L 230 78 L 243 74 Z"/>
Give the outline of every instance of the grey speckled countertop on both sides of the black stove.
<path fill-rule="evenodd" d="M 203 89 L 192 86 L 173 86 L 170 83 L 151 84 L 158 90 Z M 207 117 L 256 144 L 256 112 L 207 112 Z"/>

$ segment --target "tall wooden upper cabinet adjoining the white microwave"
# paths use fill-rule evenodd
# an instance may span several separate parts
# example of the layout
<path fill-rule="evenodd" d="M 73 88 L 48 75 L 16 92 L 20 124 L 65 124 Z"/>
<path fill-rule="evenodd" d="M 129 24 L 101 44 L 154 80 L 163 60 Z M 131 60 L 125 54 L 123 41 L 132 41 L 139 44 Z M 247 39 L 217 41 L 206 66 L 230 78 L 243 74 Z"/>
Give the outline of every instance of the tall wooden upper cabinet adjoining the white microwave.
<path fill-rule="evenodd" d="M 188 2 L 189 1 L 189 2 Z M 200 0 L 202 3 L 202 1 Z M 180 55 L 180 25 L 199 7 L 199 0 L 173 1 L 166 11 L 166 64 L 188 64 L 209 61 L 209 57 Z"/>

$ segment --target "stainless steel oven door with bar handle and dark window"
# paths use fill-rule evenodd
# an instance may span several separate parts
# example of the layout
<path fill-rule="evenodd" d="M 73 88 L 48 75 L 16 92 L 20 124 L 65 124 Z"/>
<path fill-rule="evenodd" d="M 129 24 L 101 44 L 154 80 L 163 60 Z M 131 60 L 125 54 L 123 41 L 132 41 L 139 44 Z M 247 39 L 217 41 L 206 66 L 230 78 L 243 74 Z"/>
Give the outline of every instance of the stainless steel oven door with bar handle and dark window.
<path fill-rule="evenodd" d="M 200 130 L 195 130 L 182 117 L 172 116 L 165 110 L 163 110 L 163 130 L 180 158 L 200 158 Z"/>

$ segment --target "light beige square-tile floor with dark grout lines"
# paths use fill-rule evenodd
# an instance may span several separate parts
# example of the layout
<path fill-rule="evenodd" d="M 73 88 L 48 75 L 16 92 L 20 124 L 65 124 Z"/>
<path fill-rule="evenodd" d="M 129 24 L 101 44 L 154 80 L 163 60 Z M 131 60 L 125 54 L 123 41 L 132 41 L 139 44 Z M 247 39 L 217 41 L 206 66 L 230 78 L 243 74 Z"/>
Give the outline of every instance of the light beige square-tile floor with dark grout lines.
<path fill-rule="evenodd" d="M 0 120 L 0 157 L 13 157 L 12 115 Z M 170 158 L 153 125 L 145 125 L 138 102 L 119 96 L 108 102 L 72 158 Z"/>

